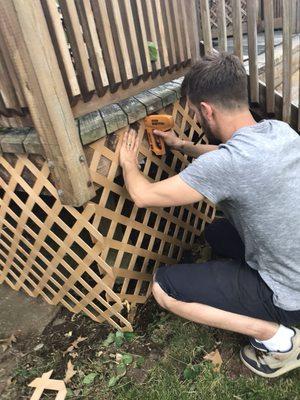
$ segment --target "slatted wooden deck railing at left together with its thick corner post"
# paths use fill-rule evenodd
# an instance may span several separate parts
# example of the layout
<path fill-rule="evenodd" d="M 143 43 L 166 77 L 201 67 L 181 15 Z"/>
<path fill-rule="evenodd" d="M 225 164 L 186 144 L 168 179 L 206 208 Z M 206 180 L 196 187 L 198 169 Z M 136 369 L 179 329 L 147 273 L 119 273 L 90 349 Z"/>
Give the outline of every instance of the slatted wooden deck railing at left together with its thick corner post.
<path fill-rule="evenodd" d="M 199 57 L 189 5 L 0 0 L 0 126 L 36 128 L 65 204 L 95 195 L 74 117 L 183 75 Z"/>

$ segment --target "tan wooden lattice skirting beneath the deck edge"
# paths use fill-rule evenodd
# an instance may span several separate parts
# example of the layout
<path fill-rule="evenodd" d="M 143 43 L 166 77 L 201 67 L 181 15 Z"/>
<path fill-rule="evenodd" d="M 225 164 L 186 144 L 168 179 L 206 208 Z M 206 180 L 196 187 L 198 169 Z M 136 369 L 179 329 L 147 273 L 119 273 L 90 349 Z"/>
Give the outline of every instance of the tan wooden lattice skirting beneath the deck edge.
<path fill-rule="evenodd" d="M 206 142 L 184 100 L 162 112 L 173 114 L 179 136 Z M 139 160 L 148 179 L 166 179 L 188 165 L 190 159 L 175 151 L 162 158 L 151 153 L 143 121 L 138 125 Z M 0 283 L 131 330 L 126 306 L 145 302 L 155 269 L 180 260 L 214 208 L 205 201 L 137 208 L 118 164 L 124 130 L 86 147 L 97 194 L 80 208 L 61 204 L 41 156 L 1 157 Z"/>

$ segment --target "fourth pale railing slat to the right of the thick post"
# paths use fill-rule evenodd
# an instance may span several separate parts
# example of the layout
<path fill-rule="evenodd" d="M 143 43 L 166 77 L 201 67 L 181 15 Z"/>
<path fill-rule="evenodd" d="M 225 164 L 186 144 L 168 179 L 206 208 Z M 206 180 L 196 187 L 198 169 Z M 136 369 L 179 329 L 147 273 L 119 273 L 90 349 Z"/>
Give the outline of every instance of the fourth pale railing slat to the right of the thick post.
<path fill-rule="evenodd" d="M 121 82 L 121 75 L 106 4 L 104 0 L 91 0 L 91 5 L 103 51 L 110 88 L 112 88 Z"/>

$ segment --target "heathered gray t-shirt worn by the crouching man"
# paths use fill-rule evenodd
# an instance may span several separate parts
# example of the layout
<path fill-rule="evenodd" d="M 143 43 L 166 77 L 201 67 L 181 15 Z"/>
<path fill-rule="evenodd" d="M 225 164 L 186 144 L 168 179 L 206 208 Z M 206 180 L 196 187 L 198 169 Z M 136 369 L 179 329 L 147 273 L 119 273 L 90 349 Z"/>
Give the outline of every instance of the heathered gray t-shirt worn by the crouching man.
<path fill-rule="evenodd" d="M 300 137 L 281 121 L 238 129 L 179 176 L 223 210 L 274 304 L 300 309 Z"/>

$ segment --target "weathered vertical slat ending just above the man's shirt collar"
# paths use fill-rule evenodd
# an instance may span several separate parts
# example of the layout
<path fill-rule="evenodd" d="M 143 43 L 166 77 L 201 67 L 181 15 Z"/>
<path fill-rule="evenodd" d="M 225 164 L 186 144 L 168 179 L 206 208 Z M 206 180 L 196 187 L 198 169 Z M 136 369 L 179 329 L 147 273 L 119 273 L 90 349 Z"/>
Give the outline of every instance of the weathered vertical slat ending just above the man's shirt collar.
<path fill-rule="evenodd" d="M 266 110 L 275 112 L 274 84 L 274 9 L 273 0 L 264 0 L 265 53 L 266 53 Z"/>

